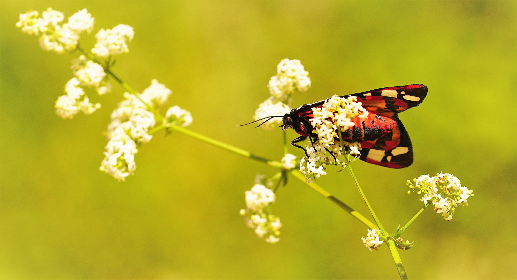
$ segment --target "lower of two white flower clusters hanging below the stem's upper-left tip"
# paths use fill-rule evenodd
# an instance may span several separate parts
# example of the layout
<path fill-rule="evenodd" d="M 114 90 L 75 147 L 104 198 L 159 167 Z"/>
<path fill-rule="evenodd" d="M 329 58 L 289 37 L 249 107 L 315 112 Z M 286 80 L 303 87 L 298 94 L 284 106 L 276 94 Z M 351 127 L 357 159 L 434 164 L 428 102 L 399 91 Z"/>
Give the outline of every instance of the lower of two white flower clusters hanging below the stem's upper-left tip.
<path fill-rule="evenodd" d="M 54 106 L 56 114 L 63 119 L 72 119 L 80 111 L 91 114 L 100 108 L 100 104 L 90 103 L 88 96 L 84 94 L 84 90 L 79 85 L 78 79 L 70 79 L 65 85 L 66 94 L 59 96 L 56 100 Z"/>

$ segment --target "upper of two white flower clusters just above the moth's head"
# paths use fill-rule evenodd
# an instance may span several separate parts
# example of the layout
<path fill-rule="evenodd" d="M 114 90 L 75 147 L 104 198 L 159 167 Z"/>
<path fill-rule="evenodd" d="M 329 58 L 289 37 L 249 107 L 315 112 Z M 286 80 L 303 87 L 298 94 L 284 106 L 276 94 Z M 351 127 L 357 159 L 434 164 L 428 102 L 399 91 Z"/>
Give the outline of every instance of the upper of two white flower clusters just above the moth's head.
<path fill-rule="evenodd" d="M 310 86 L 309 72 L 300 61 L 285 58 L 278 64 L 277 75 L 271 77 L 267 87 L 273 98 L 285 102 L 295 89 L 305 92 Z"/>

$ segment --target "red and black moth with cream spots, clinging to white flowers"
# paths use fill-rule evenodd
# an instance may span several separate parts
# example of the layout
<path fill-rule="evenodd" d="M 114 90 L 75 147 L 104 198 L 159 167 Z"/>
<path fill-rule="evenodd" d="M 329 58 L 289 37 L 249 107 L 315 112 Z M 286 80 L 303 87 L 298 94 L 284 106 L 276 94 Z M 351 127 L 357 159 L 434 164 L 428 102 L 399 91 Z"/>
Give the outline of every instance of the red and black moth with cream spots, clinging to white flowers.
<path fill-rule="evenodd" d="M 354 126 L 342 132 L 343 140 L 360 142 L 360 159 L 367 163 L 389 168 L 410 166 L 413 163 L 413 146 L 399 119 L 399 113 L 420 105 L 427 92 L 427 86 L 423 84 L 409 84 L 340 96 L 356 96 L 357 102 L 361 102 L 362 107 L 369 112 L 363 121 L 357 117 L 353 119 Z M 282 117 L 283 124 L 280 127 L 283 130 L 292 128 L 300 135 L 291 144 L 307 155 L 307 151 L 296 143 L 308 137 L 311 143 L 317 139 L 309 120 L 314 117 L 312 108 L 321 108 L 326 100 L 304 104 L 285 115 L 268 116 L 254 122 L 267 119 L 264 124 L 273 117 Z"/>

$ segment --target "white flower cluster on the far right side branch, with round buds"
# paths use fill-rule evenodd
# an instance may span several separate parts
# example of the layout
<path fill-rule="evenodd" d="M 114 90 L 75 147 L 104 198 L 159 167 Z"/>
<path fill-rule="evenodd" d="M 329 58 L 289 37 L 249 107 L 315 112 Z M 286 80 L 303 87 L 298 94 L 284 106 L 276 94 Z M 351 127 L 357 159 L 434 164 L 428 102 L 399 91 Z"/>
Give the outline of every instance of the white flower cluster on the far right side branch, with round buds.
<path fill-rule="evenodd" d="M 452 219 L 454 207 L 467 206 L 467 198 L 474 196 L 472 189 L 462 187 L 460 179 L 449 173 L 438 173 L 433 177 L 421 175 L 413 181 L 415 183 L 407 180 L 406 184 L 411 189 L 407 193 L 410 194 L 414 191 L 417 191 L 419 195 L 423 193 L 420 200 L 426 205 L 431 201 L 434 211 L 442 214 L 446 220 Z"/>

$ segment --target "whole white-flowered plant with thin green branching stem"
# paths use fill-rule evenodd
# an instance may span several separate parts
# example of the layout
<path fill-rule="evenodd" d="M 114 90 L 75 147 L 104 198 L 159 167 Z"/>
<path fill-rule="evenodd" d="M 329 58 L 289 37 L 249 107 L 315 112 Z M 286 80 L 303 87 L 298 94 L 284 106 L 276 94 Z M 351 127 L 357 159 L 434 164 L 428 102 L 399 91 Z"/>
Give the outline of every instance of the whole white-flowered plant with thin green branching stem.
<path fill-rule="evenodd" d="M 57 97 L 55 102 L 55 111 L 59 117 L 69 120 L 80 112 L 92 114 L 101 108 L 99 103 L 90 102 L 84 91 L 86 87 L 94 88 L 99 95 L 108 94 L 112 89 L 109 81 L 111 78 L 126 90 L 124 98 L 117 108 L 114 108 L 105 131 L 107 144 L 99 168 L 118 181 L 125 181 L 129 175 L 134 174 L 135 154 L 138 153 L 141 144 L 153 138 L 153 134 L 162 129 L 166 133 L 173 130 L 180 132 L 278 169 L 270 178 L 260 174 L 255 177 L 253 187 L 245 193 L 246 208 L 240 210 L 246 226 L 254 229 L 259 238 L 265 238 L 265 241 L 271 244 L 280 241 L 282 223 L 280 218 L 273 214 L 272 205 L 276 201 L 279 186 L 285 186 L 288 176 L 291 175 L 366 225 L 368 234 L 366 238 L 361 238 L 363 244 L 370 252 L 386 244 L 402 279 L 407 279 L 407 275 L 397 248 L 405 250 L 413 247 L 413 242 L 404 242 L 401 237 L 408 226 L 430 204 L 434 205 L 436 213 L 441 214 L 446 220 L 451 220 L 455 209 L 461 205 L 468 205 L 467 199 L 474 196 L 472 189 L 462 186 L 460 180 L 449 173 L 438 173 L 432 177 L 421 175 L 413 182 L 408 180 L 408 194 L 415 191 L 419 195 L 423 193 L 420 200 L 424 206 L 403 227 L 399 226 L 393 233 L 388 233 L 377 218 L 352 170 L 352 163 L 361 155 L 361 143 L 344 141 L 341 135 L 354 126 L 353 119 L 364 120 L 369 114 L 356 97 L 342 98 L 334 95 L 327 99 L 321 108 L 312 109 L 313 118 L 309 121 L 317 139 L 307 143 L 305 157 L 298 160 L 295 155 L 288 152 L 286 132 L 283 130 L 283 157 L 280 161 L 270 160 L 185 128 L 192 123 L 192 115 L 178 106 L 170 107 L 164 116 L 161 115 L 159 109 L 169 100 L 172 94 L 170 89 L 155 79 L 139 93 L 112 71 L 115 64 L 114 56 L 129 52 L 128 43 L 135 34 L 133 28 L 125 24 L 106 30 L 102 28 L 95 35 L 97 42 L 94 47 L 88 51 L 80 46 L 79 40 L 82 33 L 89 34 L 93 31 L 94 20 L 92 15 L 83 9 L 69 17 L 67 23 L 61 24 L 64 21 L 63 13 L 49 8 L 42 12 L 41 17 L 37 11 L 20 14 L 16 26 L 26 34 L 39 36 L 40 47 L 45 51 L 54 51 L 58 54 L 80 53 L 71 62 L 73 77 L 64 86 L 65 95 Z M 292 95 L 296 92 L 307 92 L 310 86 L 309 72 L 301 62 L 285 58 L 278 64 L 276 75 L 269 80 L 267 87 L 270 96 L 258 106 L 253 118 L 260 120 L 271 115 L 289 113 Z M 263 127 L 271 129 L 279 123 L 279 119 L 269 119 Z M 327 175 L 326 170 L 331 166 L 339 167 L 338 171 L 348 169 L 375 223 L 315 183 L 322 175 Z"/>

